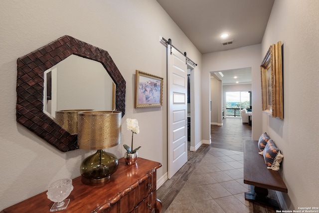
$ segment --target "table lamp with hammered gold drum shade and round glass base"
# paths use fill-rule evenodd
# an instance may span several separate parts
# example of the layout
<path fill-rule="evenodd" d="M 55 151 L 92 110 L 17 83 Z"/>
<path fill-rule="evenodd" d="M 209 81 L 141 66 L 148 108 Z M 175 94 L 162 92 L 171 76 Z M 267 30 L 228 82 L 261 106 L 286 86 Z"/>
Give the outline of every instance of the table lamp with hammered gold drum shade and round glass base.
<path fill-rule="evenodd" d="M 108 180 L 118 168 L 118 158 L 103 149 L 121 143 L 121 111 L 84 111 L 78 113 L 78 146 L 98 150 L 81 164 L 82 177 L 91 183 Z"/>

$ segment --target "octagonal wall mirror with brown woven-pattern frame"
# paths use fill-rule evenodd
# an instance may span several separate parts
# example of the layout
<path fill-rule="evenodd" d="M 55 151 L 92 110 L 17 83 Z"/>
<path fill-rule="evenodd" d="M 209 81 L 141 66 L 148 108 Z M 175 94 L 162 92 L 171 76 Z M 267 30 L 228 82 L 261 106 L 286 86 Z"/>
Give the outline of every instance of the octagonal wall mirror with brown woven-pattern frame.
<path fill-rule="evenodd" d="M 62 77 L 61 80 L 58 79 L 61 68 L 53 66 L 64 61 L 72 54 L 75 58 L 78 56 L 81 60 L 94 61 L 97 62 L 98 66 L 102 65 L 104 67 L 103 73 L 108 73 L 114 81 L 114 83 L 110 83 L 113 84 L 113 88 L 112 86 L 104 87 L 107 84 L 104 82 L 103 87 L 87 93 L 88 89 L 96 87 L 97 84 L 101 85 L 100 80 L 106 81 L 106 79 L 100 76 L 92 77 L 96 74 L 96 68 L 91 68 L 92 65 L 79 65 L 81 62 L 78 61 L 70 63 L 72 64 L 70 70 L 75 73 L 69 74 L 71 79 L 66 79 L 66 77 Z M 73 65 L 79 65 L 79 67 Z M 88 68 L 79 71 L 82 67 Z M 79 73 L 81 72 L 85 73 L 82 80 L 79 79 Z M 65 74 L 64 71 L 61 73 Z M 54 76 L 52 77 L 52 75 Z M 108 75 L 106 74 L 106 76 Z M 45 78 L 48 78 L 48 81 L 45 81 Z M 65 80 L 65 83 L 61 90 L 59 83 L 63 80 Z M 71 88 L 76 89 L 72 93 L 65 94 L 65 97 L 60 100 L 59 91 L 61 90 L 62 95 L 64 95 L 64 93 L 72 91 Z M 110 92 L 111 88 L 112 98 L 108 99 L 106 96 L 110 96 L 108 95 L 110 93 L 107 92 Z M 53 90 L 56 90 L 55 100 L 53 100 Z M 69 35 L 64 35 L 17 59 L 16 94 L 16 121 L 62 152 L 78 149 L 77 134 L 72 134 L 57 124 L 54 119 L 56 110 L 71 110 L 71 108 L 77 110 L 79 108 L 113 110 L 116 108 L 116 110 L 122 112 L 122 117 L 125 115 L 126 81 L 110 54 L 104 49 Z M 91 100 L 92 97 L 94 97 L 94 101 Z M 60 105 L 61 103 L 63 106 Z M 103 103 L 103 108 L 100 108 L 100 105 L 80 106 L 75 105 L 75 103 Z M 110 103 L 112 105 L 107 109 L 108 106 L 106 105 Z"/>

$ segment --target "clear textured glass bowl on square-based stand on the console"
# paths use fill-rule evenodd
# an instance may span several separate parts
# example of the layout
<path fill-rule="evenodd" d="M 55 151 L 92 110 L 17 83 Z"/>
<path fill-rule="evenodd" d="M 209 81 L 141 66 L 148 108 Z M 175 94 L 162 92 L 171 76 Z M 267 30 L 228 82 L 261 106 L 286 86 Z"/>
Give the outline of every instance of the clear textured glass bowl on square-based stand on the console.
<path fill-rule="evenodd" d="M 70 199 L 66 198 L 70 195 L 72 190 L 73 185 L 71 179 L 61 179 L 53 182 L 46 193 L 48 199 L 54 202 L 50 212 L 65 210 L 70 202 Z"/>

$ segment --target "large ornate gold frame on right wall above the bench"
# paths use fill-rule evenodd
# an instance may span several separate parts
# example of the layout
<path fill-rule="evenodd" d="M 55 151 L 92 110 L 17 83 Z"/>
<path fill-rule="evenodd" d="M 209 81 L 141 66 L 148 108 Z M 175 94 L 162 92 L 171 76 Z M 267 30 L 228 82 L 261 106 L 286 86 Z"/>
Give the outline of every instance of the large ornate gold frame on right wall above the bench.
<path fill-rule="evenodd" d="M 272 44 L 260 66 L 262 110 L 279 119 L 284 118 L 283 69 L 281 41 Z"/>

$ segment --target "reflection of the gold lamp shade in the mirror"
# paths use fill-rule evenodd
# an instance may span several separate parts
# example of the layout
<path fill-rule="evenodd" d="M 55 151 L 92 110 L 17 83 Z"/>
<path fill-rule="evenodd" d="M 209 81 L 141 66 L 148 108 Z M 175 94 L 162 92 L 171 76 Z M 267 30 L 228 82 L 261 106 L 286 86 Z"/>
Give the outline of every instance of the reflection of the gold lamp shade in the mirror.
<path fill-rule="evenodd" d="M 55 112 L 55 122 L 70 134 L 78 134 L 78 114 L 91 109 L 59 110 Z"/>

